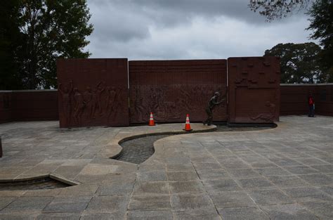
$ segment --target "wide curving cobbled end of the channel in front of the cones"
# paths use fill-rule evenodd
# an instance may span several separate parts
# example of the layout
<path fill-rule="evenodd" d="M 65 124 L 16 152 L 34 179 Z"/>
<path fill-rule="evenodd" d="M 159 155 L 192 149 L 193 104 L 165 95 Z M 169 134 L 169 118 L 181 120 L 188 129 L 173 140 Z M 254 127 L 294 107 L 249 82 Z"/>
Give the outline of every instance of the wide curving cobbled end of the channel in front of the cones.
<path fill-rule="evenodd" d="M 141 164 L 155 153 L 154 142 L 167 136 L 171 135 L 145 136 L 124 141 L 120 144 L 122 146 L 122 153 L 113 159 L 131 162 L 133 164 Z"/>

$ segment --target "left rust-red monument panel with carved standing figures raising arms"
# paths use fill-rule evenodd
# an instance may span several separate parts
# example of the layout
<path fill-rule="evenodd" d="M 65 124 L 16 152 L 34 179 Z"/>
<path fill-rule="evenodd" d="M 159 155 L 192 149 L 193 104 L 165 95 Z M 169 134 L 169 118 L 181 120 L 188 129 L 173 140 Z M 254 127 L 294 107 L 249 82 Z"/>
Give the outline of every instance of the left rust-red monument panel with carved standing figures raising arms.
<path fill-rule="evenodd" d="M 57 72 L 60 127 L 129 125 L 126 58 L 58 60 Z"/>

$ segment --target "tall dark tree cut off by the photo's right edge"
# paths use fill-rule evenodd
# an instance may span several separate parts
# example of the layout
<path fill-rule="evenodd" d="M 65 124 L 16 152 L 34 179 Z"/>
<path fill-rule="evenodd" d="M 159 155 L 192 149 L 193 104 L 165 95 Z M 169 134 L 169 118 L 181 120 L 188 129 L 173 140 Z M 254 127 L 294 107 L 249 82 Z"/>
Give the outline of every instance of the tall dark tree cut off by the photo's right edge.
<path fill-rule="evenodd" d="M 315 1 L 308 11 L 311 24 L 307 30 L 313 30 L 312 39 L 319 39 L 322 51 L 320 63 L 325 68 L 325 82 L 333 82 L 333 3 Z"/>

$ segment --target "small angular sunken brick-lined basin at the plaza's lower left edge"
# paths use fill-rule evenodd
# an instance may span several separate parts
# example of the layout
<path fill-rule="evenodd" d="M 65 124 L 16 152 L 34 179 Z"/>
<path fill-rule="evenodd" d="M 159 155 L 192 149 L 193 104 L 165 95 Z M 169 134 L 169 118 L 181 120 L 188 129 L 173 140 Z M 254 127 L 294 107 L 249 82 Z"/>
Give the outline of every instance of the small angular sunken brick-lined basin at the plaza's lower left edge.
<path fill-rule="evenodd" d="M 65 188 L 71 186 L 67 183 L 44 177 L 28 181 L 5 181 L 0 182 L 0 190 L 44 190 L 53 188 Z"/>

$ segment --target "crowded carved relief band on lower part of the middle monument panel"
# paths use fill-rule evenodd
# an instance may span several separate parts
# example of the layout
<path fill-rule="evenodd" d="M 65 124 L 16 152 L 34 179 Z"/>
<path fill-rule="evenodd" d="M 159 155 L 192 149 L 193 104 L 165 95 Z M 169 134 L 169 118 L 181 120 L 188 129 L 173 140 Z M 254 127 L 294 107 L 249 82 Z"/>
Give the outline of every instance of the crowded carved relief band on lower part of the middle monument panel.
<path fill-rule="evenodd" d="M 131 89 L 131 119 L 136 119 L 136 123 L 148 122 L 150 112 L 157 122 L 183 121 L 187 113 L 192 120 L 202 121 L 211 94 L 216 90 L 226 92 L 226 88 L 216 85 L 133 86 Z M 216 112 L 221 115 L 224 108 L 217 107 Z"/>

